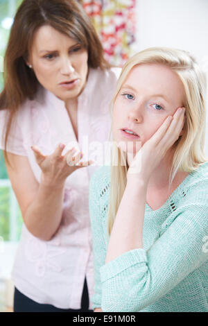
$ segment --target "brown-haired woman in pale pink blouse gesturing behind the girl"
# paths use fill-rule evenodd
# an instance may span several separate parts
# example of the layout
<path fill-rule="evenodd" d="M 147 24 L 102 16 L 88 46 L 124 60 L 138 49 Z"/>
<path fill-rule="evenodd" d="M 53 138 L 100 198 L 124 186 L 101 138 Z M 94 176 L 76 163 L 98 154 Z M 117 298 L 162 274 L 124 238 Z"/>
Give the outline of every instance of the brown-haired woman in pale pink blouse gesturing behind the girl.
<path fill-rule="evenodd" d="M 88 188 L 96 167 L 80 160 L 86 139 L 107 140 L 120 69 L 107 65 L 73 0 L 23 1 L 5 65 L 0 147 L 24 219 L 12 271 L 15 311 L 90 311 Z"/>

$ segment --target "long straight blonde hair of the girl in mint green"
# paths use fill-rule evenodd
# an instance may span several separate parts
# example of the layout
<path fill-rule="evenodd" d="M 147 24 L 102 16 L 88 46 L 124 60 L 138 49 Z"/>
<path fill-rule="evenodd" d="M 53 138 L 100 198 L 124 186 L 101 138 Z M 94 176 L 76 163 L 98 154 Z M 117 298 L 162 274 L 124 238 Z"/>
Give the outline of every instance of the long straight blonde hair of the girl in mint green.
<path fill-rule="evenodd" d="M 175 71 L 184 85 L 186 121 L 184 123 L 183 135 L 174 144 L 175 153 L 173 155 L 173 164 L 169 178 L 170 187 L 178 170 L 191 172 L 207 161 L 204 152 L 206 76 L 205 72 L 198 66 L 195 58 L 187 51 L 165 47 L 145 49 L 133 55 L 123 66 L 119 80 L 116 83 L 111 110 L 116 96 L 130 70 L 135 65 L 141 64 L 165 65 Z M 118 151 L 118 154 L 116 151 Z M 116 165 L 114 165 L 115 157 L 118 162 Z M 107 229 L 109 235 L 112 231 L 114 218 L 116 217 L 116 212 L 119 209 L 119 204 L 125 190 L 127 172 L 128 164 L 125 155 L 114 144 L 112 147 L 110 203 L 107 213 Z"/>

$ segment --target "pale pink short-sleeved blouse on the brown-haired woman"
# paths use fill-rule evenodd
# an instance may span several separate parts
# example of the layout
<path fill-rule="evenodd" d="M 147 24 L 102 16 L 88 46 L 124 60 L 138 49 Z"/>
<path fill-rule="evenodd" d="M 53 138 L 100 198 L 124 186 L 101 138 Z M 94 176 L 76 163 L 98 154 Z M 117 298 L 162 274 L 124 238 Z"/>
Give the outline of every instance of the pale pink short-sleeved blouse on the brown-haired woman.
<path fill-rule="evenodd" d="M 89 156 L 83 160 L 96 160 L 99 147 L 96 144 L 104 144 L 110 137 L 110 101 L 120 72 L 120 68 L 89 69 L 87 84 L 78 98 L 78 142 L 64 102 L 40 87 L 35 99 L 27 100 L 19 110 L 7 151 L 28 157 L 37 182 L 40 182 L 41 169 L 35 161 L 32 145 L 38 146 L 45 155 L 53 153 L 59 143 L 67 145 L 63 155 L 71 145 L 85 154 L 88 141 Z M 6 110 L 1 110 L 0 136 L 4 136 L 5 121 Z M 3 137 L 0 138 L 0 148 L 4 149 Z M 80 309 L 86 275 L 89 309 L 92 309 L 94 264 L 89 179 L 97 168 L 96 163 L 85 166 L 67 178 L 62 221 L 53 239 L 42 241 L 23 225 L 12 280 L 21 293 L 36 302 L 61 309 Z"/>

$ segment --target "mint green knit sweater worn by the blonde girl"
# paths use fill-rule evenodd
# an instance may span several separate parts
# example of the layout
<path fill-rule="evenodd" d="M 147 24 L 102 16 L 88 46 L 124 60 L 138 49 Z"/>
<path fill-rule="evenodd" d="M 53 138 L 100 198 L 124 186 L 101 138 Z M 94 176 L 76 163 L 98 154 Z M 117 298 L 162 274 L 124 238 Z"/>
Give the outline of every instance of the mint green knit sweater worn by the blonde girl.
<path fill-rule="evenodd" d="M 90 180 L 95 294 L 103 311 L 208 311 L 208 162 L 153 211 L 146 204 L 144 248 L 105 264 L 110 166 Z M 128 216 L 126 216 L 128 218 Z"/>

